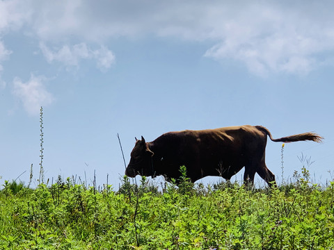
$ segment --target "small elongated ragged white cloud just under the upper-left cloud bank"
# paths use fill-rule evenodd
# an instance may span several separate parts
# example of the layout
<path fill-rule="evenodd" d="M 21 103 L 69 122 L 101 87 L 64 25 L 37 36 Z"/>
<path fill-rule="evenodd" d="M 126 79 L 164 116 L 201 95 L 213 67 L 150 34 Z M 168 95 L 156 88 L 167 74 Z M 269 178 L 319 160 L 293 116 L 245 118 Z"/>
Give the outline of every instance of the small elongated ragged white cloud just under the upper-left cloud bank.
<path fill-rule="evenodd" d="M 67 68 L 79 67 L 80 60 L 95 59 L 97 67 L 104 71 L 109 69 L 115 62 L 115 56 L 112 51 L 102 46 L 100 49 L 90 49 L 86 43 L 75 44 L 70 47 L 63 45 L 61 49 L 51 50 L 44 43 L 40 43 L 40 49 L 47 59 L 48 63 L 58 61 L 63 63 Z"/>

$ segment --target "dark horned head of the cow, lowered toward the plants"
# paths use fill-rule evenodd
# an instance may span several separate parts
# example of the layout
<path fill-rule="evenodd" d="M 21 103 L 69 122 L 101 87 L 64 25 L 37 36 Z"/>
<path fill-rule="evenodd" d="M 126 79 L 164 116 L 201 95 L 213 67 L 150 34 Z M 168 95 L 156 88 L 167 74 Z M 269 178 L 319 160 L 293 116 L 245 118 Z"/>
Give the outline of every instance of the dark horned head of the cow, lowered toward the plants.
<path fill-rule="evenodd" d="M 152 176 L 154 170 L 152 167 L 152 156 L 154 153 L 148 148 L 143 136 L 141 140 L 136 139 L 136 144 L 131 152 L 131 159 L 125 174 L 129 177 L 135 177 L 137 174 L 141 176 Z"/>

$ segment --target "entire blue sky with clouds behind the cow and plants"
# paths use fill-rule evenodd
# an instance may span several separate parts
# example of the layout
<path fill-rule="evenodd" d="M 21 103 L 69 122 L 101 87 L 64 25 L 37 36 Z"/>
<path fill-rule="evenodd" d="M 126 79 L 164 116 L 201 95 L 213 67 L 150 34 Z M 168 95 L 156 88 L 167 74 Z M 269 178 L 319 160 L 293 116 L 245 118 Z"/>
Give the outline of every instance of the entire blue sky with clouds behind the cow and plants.
<path fill-rule="evenodd" d="M 135 136 L 241 124 L 266 126 L 274 138 L 316 131 L 324 143 L 286 144 L 284 178 L 301 171 L 303 153 L 315 161 L 315 181 L 333 180 L 333 8 L 0 1 L 0 184 L 18 176 L 28 183 L 31 164 L 37 183 L 40 106 L 50 182 L 85 173 L 90 182 L 95 171 L 98 183 L 109 174 L 117 189 L 125 170 L 117 133 L 128 162 Z M 267 144 L 278 181 L 281 146 Z"/>

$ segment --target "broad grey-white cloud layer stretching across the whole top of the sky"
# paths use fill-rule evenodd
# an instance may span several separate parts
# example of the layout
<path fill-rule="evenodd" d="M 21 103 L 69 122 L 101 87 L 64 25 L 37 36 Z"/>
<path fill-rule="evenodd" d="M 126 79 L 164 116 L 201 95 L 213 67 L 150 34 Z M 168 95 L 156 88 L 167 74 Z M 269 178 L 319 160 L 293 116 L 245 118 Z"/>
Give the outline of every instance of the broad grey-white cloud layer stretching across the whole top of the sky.
<path fill-rule="evenodd" d="M 49 63 L 67 67 L 93 59 L 97 67 L 108 69 L 115 56 L 105 46 L 90 49 L 92 44 L 155 35 L 205 42 L 210 44 L 205 56 L 236 60 L 253 74 L 308 74 L 333 61 L 333 8 L 330 0 L 8 0 L 0 1 L 0 32 L 8 26 L 24 27 L 26 34 L 42 41 Z M 50 43 L 73 40 L 83 43 L 49 49 Z"/>

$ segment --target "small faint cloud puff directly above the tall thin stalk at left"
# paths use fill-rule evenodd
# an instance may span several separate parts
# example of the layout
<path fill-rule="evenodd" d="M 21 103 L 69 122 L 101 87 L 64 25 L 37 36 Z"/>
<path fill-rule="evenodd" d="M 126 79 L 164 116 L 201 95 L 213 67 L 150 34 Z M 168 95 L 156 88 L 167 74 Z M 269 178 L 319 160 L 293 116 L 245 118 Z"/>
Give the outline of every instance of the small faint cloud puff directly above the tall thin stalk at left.
<path fill-rule="evenodd" d="M 54 97 L 45 88 L 45 76 L 34 76 L 26 83 L 20 78 L 13 81 L 13 94 L 22 102 L 24 109 L 29 115 L 38 115 L 41 106 L 48 106 L 54 101 Z"/>

